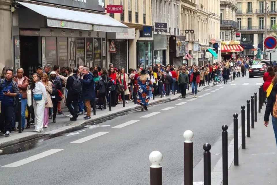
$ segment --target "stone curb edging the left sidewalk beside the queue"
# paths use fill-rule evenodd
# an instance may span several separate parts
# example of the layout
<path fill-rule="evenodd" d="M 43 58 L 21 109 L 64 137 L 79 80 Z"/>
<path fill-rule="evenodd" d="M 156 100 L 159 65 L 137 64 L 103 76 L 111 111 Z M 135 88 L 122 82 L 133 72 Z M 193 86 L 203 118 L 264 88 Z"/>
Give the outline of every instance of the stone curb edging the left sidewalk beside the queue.
<path fill-rule="evenodd" d="M 211 85 L 206 85 L 203 89 L 199 90 L 198 92 L 201 92 L 201 91 L 203 91 L 203 90 L 205 90 L 209 87 L 212 87 L 212 86 Z M 191 95 L 191 94 L 192 94 L 192 92 L 187 93 L 187 95 Z M 181 95 L 179 95 L 178 97 L 174 97 L 174 98 L 160 99 L 160 100 L 155 101 L 155 102 L 150 102 L 149 106 L 152 106 L 152 105 L 155 105 L 155 104 L 158 104 L 158 103 L 162 103 L 162 102 L 166 103 L 166 102 L 170 102 L 170 101 L 175 101 L 175 100 L 179 99 L 180 97 L 181 97 Z M 17 139 L 14 139 L 14 140 L 6 141 L 6 142 L 3 142 L 3 143 L 0 143 L 0 149 L 3 149 L 5 147 L 9 147 L 11 145 L 16 145 L 16 144 L 19 144 L 19 143 L 23 143 L 23 142 L 26 142 L 26 141 L 29 141 L 29 140 L 45 137 L 45 136 L 61 135 L 61 134 L 64 134 L 64 133 L 72 132 L 72 131 L 76 130 L 78 127 L 80 127 L 80 129 L 82 129 L 81 126 L 83 126 L 83 125 L 87 125 L 87 124 L 90 124 L 90 123 L 93 123 L 93 122 L 96 122 L 96 121 L 100 121 L 102 119 L 112 117 L 112 116 L 116 116 L 118 114 L 122 114 L 122 113 L 125 113 L 125 112 L 138 110 L 140 108 L 141 108 L 140 105 L 136 105 L 134 107 L 126 108 L 124 110 L 121 110 L 121 111 L 118 111 L 118 112 L 115 112 L 115 113 L 111 113 L 111 114 L 108 114 L 108 115 L 100 116 L 98 118 L 90 119 L 90 120 L 85 121 L 85 122 L 83 122 L 81 124 L 78 124 L 78 125 L 69 125 L 69 126 L 61 127 L 61 128 L 58 128 L 58 129 L 55 129 L 55 130 L 52 130 L 52 131 L 49 131 L 49 132 L 46 132 L 46 133 L 32 134 L 30 136 L 26 136 L 26 137 L 17 138 Z"/>

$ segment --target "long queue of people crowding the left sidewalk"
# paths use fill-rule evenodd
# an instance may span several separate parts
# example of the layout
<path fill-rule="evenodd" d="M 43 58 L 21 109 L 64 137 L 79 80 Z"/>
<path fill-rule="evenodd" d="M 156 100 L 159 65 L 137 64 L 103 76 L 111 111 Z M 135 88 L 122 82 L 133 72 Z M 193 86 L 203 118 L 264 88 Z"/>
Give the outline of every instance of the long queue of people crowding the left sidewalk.
<path fill-rule="evenodd" d="M 170 93 L 180 92 L 186 98 L 186 90 L 191 86 L 193 97 L 197 95 L 197 87 L 211 82 L 215 74 L 225 75 L 234 69 L 240 75 L 248 68 L 246 60 L 227 60 L 205 66 L 182 66 L 155 64 L 148 69 L 118 69 L 109 64 L 109 69 L 95 66 L 78 66 L 65 68 L 65 74 L 60 74 L 58 65 L 47 64 L 44 69 L 36 68 L 29 79 L 24 76 L 22 68 L 16 73 L 4 67 L 0 81 L 2 135 L 10 136 L 12 131 L 18 131 L 18 99 L 21 99 L 21 127 L 35 125 L 34 132 L 43 132 L 49 120 L 56 123 L 57 114 L 64 115 L 61 104 L 65 103 L 71 121 L 85 114 L 84 119 L 91 119 L 91 111 L 106 110 L 106 105 L 112 107 L 129 101 L 136 101 L 147 110 L 149 100 L 153 96 L 169 96 Z M 226 72 L 225 69 L 228 69 Z M 53 70 L 53 71 L 51 71 Z M 242 72 L 242 75 L 245 73 Z M 228 79 L 228 78 L 227 78 Z M 226 80 L 227 80 L 226 79 Z M 225 82 L 225 81 L 224 81 Z M 109 97 L 111 92 L 111 101 Z"/>

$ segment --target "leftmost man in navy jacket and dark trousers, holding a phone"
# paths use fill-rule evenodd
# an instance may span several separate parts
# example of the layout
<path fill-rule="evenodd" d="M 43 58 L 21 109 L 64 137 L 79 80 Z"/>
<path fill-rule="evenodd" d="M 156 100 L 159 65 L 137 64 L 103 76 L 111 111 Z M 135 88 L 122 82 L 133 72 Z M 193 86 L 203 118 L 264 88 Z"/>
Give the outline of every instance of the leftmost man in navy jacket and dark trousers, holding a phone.
<path fill-rule="evenodd" d="M 12 117 L 14 115 L 15 97 L 19 94 L 17 83 L 12 80 L 14 71 L 7 69 L 6 77 L 0 81 L 0 101 L 1 114 L 0 119 L 3 120 L 0 130 L 5 128 L 4 135 L 11 136 Z"/>

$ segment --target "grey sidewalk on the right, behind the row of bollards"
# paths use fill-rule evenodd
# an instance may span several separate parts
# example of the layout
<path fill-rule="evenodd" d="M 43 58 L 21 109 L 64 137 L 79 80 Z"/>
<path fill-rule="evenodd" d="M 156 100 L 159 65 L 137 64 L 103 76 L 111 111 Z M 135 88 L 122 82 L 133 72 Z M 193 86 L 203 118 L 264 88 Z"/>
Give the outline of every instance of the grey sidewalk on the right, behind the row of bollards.
<path fill-rule="evenodd" d="M 268 127 L 263 125 L 264 111 L 265 106 L 258 113 L 251 137 L 246 137 L 246 149 L 239 149 L 239 166 L 232 164 L 229 169 L 229 184 L 277 184 L 276 142 L 272 121 Z"/>

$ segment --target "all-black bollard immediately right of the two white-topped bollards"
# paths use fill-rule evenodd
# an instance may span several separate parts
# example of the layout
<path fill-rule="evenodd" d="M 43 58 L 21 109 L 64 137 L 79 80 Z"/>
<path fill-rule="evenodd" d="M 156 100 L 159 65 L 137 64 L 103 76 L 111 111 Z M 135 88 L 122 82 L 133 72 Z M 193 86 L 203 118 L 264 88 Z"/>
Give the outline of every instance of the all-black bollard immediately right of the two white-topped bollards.
<path fill-rule="evenodd" d="M 211 145 L 203 145 L 204 152 L 204 185 L 211 185 Z"/>

